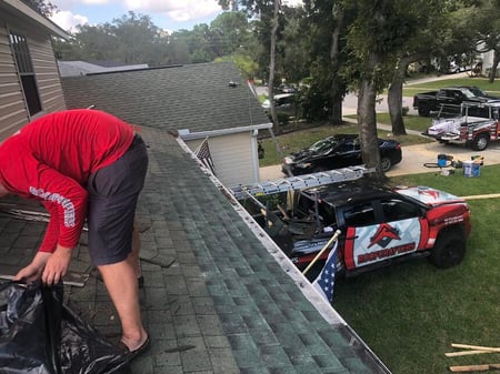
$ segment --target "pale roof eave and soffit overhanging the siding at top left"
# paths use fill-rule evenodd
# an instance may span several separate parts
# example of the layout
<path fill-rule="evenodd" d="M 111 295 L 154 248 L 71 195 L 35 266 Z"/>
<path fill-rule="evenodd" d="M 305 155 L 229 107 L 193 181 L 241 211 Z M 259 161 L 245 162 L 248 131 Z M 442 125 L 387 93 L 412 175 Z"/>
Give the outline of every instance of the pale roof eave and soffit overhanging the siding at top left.
<path fill-rule="evenodd" d="M 48 18 L 41 16 L 20 0 L 0 0 L 0 12 L 8 12 L 23 19 L 27 24 L 44 29 L 48 33 L 69 39 L 69 34 Z"/>

